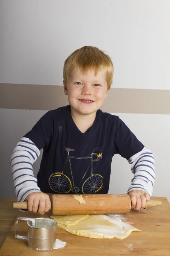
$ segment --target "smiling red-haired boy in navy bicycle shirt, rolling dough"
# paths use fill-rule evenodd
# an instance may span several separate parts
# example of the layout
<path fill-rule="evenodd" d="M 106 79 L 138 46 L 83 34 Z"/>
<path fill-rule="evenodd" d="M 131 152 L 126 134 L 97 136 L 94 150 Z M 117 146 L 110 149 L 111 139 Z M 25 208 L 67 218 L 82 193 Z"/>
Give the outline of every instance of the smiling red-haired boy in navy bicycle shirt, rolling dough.
<path fill-rule="evenodd" d="M 63 78 L 69 105 L 45 113 L 11 155 L 17 200 L 42 215 L 51 208 L 45 193 L 108 193 L 112 157 L 120 154 L 134 173 L 127 193 L 140 211 L 152 195 L 154 158 L 118 116 L 100 110 L 112 84 L 111 58 L 96 47 L 77 49 L 65 60 Z"/>

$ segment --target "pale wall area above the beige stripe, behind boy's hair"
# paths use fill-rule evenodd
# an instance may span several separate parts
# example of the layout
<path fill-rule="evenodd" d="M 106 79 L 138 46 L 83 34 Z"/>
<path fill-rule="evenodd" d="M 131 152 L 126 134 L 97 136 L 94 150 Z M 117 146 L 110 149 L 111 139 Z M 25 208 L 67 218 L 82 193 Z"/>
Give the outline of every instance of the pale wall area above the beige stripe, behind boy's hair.
<path fill-rule="evenodd" d="M 113 86 L 170 90 L 169 0 L 1 0 L 0 82 L 62 85 L 65 59 L 92 45 Z"/>

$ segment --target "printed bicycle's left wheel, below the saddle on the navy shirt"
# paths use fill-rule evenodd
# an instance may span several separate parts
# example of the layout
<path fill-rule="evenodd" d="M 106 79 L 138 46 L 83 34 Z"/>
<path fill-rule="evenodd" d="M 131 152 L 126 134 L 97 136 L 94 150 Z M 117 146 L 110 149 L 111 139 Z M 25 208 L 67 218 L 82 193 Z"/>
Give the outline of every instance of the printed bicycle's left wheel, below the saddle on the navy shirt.
<path fill-rule="evenodd" d="M 49 177 L 48 183 L 55 192 L 65 194 L 71 190 L 71 180 L 62 172 L 55 172 Z"/>

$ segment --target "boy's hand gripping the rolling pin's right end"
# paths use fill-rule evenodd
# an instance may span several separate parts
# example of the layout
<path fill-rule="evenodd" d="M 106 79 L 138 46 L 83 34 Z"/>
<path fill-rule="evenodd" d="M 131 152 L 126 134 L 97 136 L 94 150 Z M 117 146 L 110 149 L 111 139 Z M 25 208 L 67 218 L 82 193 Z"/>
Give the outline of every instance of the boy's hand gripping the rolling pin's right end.
<path fill-rule="evenodd" d="M 142 190 L 131 190 L 128 195 L 130 195 L 132 208 L 137 211 L 145 208 L 146 202 L 150 200 L 149 194 Z"/>

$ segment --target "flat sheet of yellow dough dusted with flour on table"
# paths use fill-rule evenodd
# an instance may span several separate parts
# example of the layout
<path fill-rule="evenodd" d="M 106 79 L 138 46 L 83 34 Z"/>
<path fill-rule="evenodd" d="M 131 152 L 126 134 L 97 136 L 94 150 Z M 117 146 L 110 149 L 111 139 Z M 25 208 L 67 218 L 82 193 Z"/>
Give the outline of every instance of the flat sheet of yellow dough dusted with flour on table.
<path fill-rule="evenodd" d="M 124 239 L 132 231 L 141 231 L 122 221 L 116 221 L 106 215 L 52 215 L 57 227 L 67 232 L 90 238 Z"/>

